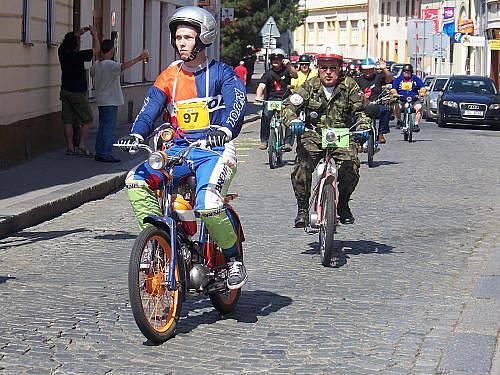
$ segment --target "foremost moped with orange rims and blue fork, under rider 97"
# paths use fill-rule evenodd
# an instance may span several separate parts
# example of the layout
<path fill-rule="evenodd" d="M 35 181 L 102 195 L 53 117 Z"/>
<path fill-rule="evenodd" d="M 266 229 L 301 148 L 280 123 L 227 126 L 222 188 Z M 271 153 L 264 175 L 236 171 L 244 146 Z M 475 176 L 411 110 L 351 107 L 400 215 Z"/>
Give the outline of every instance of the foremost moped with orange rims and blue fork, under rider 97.
<path fill-rule="evenodd" d="M 184 176 L 174 186 L 174 166 L 182 165 L 195 147 L 209 150 L 205 141 L 193 142 L 174 156 L 154 151 L 145 144 L 132 145 L 130 149 L 133 147 L 146 150 L 149 165 L 164 176 L 164 190 L 157 192 L 162 216 L 150 215 L 144 219 L 144 223 L 151 225 L 135 240 L 128 271 L 135 322 L 146 338 L 159 344 L 175 335 L 182 302 L 188 293 L 208 294 L 215 309 L 228 314 L 236 307 L 241 289 L 228 289 L 224 256 L 204 223 L 198 225 L 196 221 L 192 210 L 195 176 Z M 227 195 L 225 208 L 234 219 L 237 249 L 243 256 L 245 236 L 239 217 L 229 204 L 236 197 Z"/>

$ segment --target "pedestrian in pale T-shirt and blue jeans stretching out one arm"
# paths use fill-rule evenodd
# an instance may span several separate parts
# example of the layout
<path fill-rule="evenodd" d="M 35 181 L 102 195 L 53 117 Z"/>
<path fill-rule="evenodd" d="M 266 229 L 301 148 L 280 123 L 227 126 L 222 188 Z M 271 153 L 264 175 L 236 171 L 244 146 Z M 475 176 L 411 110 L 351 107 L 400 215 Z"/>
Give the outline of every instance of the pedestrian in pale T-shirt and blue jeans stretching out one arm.
<path fill-rule="evenodd" d="M 101 43 L 101 58 L 90 69 L 90 74 L 94 77 L 95 98 L 99 110 L 95 160 L 105 163 L 120 161 L 112 155 L 118 106 L 124 103 L 120 75 L 125 69 L 149 58 L 148 54 L 143 52 L 130 61 L 119 63 L 114 61 L 115 53 L 114 42 L 111 39 L 104 39 Z"/>

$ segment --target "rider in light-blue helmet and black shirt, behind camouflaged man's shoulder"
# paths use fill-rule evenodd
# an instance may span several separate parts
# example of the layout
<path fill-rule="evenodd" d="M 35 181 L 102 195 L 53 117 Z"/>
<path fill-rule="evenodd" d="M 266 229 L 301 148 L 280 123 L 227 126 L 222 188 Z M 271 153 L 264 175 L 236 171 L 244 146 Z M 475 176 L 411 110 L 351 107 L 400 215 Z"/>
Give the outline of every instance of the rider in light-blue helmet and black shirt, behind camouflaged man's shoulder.
<path fill-rule="evenodd" d="M 384 60 L 379 59 L 380 73 L 375 72 L 375 63 L 372 59 L 364 59 L 361 61 L 361 76 L 356 78 L 356 82 L 365 94 L 365 99 L 368 101 L 375 101 L 382 93 L 382 86 L 391 83 L 393 77 L 391 72 L 387 69 Z M 391 111 L 385 104 L 379 104 L 378 115 L 378 142 L 385 143 L 386 139 L 384 134 L 390 132 L 389 120 L 391 118 Z"/>

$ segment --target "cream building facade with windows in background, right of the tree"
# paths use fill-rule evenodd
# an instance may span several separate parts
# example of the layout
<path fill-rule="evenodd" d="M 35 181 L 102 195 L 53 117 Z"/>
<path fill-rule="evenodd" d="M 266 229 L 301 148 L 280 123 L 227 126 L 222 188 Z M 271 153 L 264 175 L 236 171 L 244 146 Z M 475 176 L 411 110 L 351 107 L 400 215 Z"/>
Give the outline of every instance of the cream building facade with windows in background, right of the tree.
<path fill-rule="evenodd" d="M 367 0 L 302 1 L 299 10 L 307 10 L 308 15 L 304 25 L 294 31 L 293 49 L 321 53 L 335 45 L 346 58 L 364 58 L 367 7 Z"/>

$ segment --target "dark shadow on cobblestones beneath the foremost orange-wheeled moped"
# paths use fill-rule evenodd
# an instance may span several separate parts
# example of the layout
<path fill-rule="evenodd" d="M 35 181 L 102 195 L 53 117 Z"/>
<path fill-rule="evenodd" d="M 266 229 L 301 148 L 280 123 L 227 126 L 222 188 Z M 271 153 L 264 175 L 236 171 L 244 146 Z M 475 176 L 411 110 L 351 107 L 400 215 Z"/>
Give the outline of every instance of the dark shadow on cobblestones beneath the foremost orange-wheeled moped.
<path fill-rule="evenodd" d="M 221 319 L 234 319 L 239 323 L 256 323 L 260 316 L 267 316 L 292 304 L 290 297 L 266 290 L 242 291 L 236 309 L 221 314 L 212 307 L 208 298 L 191 298 L 182 307 L 181 319 L 177 323 L 177 335 L 187 334 L 204 324 L 213 324 Z M 200 310 L 203 310 L 201 312 Z M 149 340 L 144 345 L 154 345 Z"/>

